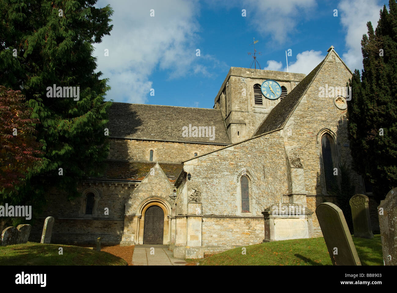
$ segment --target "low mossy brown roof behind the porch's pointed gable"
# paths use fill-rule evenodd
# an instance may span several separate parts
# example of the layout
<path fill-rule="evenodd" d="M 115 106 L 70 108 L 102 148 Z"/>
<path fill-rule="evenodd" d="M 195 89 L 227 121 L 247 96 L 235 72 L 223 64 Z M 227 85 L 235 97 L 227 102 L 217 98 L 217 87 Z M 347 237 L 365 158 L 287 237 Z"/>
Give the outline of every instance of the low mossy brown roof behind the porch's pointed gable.
<path fill-rule="evenodd" d="M 121 179 L 121 180 L 143 180 L 156 165 L 156 162 L 132 162 L 122 160 L 106 160 L 105 173 L 102 177 L 95 179 Z M 183 164 L 158 163 L 170 182 L 175 182 L 183 168 Z"/>

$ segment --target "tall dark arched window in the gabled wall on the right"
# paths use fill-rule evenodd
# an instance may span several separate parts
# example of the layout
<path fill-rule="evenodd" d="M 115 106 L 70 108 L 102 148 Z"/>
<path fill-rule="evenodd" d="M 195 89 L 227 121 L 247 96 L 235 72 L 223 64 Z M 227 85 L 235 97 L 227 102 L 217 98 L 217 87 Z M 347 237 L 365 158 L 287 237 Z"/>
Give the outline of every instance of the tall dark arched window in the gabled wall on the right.
<path fill-rule="evenodd" d="M 334 168 L 337 168 L 335 143 L 328 133 L 321 137 L 321 152 L 327 191 L 335 192 L 338 189 L 337 175 L 334 175 Z"/>

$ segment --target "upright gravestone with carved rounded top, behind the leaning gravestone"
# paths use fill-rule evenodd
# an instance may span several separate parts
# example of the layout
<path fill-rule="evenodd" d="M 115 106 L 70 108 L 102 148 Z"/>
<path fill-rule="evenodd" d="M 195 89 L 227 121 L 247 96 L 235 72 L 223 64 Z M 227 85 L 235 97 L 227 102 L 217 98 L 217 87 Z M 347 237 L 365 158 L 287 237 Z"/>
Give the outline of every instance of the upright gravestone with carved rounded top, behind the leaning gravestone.
<path fill-rule="evenodd" d="M 356 194 L 349 200 L 351 216 L 353 218 L 354 237 L 374 238 L 372 234 L 369 198 L 366 195 Z"/>

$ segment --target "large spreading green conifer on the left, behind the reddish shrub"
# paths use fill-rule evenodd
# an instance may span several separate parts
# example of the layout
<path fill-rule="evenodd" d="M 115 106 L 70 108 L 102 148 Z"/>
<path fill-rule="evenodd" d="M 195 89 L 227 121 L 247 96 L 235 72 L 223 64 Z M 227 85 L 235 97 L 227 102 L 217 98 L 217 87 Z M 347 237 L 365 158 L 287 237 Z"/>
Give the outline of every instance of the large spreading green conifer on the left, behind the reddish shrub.
<path fill-rule="evenodd" d="M 92 54 L 93 44 L 110 35 L 113 11 L 95 3 L 0 0 L 0 84 L 26 96 L 45 153 L 19 192 L 3 192 L 0 201 L 34 203 L 37 214 L 46 190 L 56 187 L 73 198 L 78 179 L 101 172 L 109 150 L 104 129 L 110 102 L 104 97 L 110 87 L 95 72 Z M 65 90 L 50 93 L 54 85 L 74 87 L 78 98 Z"/>

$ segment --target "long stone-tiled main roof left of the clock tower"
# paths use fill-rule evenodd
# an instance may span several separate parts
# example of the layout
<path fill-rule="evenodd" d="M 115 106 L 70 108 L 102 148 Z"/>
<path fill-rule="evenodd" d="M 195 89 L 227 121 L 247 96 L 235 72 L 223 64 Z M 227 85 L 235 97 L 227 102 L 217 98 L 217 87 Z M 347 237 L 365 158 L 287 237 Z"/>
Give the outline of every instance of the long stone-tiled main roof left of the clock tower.
<path fill-rule="evenodd" d="M 110 137 L 231 144 L 220 109 L 113 102 L 108 111 Z M 182 127 L 215 127 L 209 137 L 182 137 Z"/>

